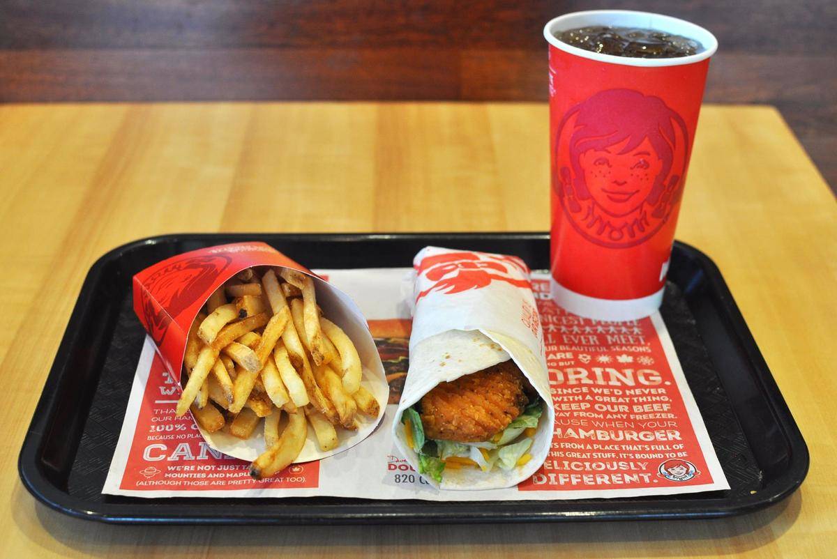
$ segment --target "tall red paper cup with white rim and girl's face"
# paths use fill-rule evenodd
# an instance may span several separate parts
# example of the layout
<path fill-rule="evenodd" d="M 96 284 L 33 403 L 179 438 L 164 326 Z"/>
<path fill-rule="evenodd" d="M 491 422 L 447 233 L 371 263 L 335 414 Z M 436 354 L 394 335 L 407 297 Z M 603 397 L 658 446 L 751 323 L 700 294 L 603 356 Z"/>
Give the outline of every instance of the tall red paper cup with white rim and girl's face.
<path fill-rule="evenodd" d="M 555 34 L 591 25 L 699 41 L 674 59 L 597 54 Z M 716 38 L 656 13 L 554 18 L 549 42 L 552 297 L 570 312 L 628 321 L 660 307 L 680 198 Z"/>

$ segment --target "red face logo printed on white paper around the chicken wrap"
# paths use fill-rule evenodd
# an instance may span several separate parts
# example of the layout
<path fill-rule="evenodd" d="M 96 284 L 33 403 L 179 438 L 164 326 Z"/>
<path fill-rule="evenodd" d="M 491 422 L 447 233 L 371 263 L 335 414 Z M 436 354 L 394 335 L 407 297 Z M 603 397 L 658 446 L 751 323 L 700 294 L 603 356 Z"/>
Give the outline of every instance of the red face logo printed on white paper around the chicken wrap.
<path fill-rule="evenodd" d="M 428 280 L 436 283 L 420 292 L 416 301 L 428 295 L 431 291 L 451 295 L 462 291 L 482 289 L 490 285 L 492 281 L 501 281 L 515 287 L 531 289 L 531 283 L 528 280 L 517 280 L 509 277 L 510 269 L 516 269 L 524 275 L 529 273 L 526 264 L 523 264 L 520 259 L 500 254 L 460 252 L 425 257 L 419 264 L 417 271 L 419 275 L 425 274 Z"/>

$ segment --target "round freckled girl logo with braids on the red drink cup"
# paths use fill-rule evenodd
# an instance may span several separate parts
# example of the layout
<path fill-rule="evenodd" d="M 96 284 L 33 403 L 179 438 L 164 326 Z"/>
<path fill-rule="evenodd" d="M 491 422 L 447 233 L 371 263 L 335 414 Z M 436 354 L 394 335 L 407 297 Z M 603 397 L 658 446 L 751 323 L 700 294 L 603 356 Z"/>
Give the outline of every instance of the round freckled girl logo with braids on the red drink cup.
<path fill-rule="evenodd" d="M 558 126 L 552 188 L 573 227 L 619 249 L 660 230 L 683 191 L 689 132 L 659 97 L 605 90 Z"/>

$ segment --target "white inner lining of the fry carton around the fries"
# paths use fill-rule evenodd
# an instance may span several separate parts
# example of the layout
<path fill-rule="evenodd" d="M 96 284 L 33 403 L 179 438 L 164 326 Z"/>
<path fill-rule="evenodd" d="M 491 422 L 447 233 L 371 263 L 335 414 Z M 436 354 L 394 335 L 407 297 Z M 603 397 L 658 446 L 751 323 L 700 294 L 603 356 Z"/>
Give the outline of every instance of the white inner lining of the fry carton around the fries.
<path fill-rule="evenodd" d="M 389 395 L 389 388 L 383 372 L 381 358 L 378 355 L 375 341 L 372 340 L 367 321 L 363 317 L 361 310 L 355 305 L 352 298 L 341 290 L 336 289 L 334 286 L 329 285 L 314 275 L 311 275 L 311 278 L 314 280 L 317 304 L 320 305 L 323 315 L 337 326 L 340 326 L 352 342 L 354 342 L 355 347 L 357 347 L 357 353 L 361 358 L 363 367 L 363 380 L 361 384 L 369 392 L 372 392 L 372 395 L 381 406 L 381 411 L 378 413 L 377 418 L 374 419 L 362 416 L 362 427 L 357 429 L 357 431 L 337 428 L 337 436 L 340 439 L 340 444 L 336 449 L 331 449 L 326 452 L 320 449 L 316 441 L 314 428 L 309 424 L 306 444 L 302 448 L 300 455 L 294 460 L 294 463 L 309 462 L 311 460 L 326 458 L 326 456 L 331 456 L 332 454 L 339 454 L 344 450 L 351 449 L 364 438 L 367 438 L 375 430 L 377 424 L 381 423 L 381 419 L 383 419 L 383 414 L 387 408 L 386 404 Z M 286 421 L 287 414 L 283 413 L 282 423 L 279 426 L 280 432 L 284 428 Z M 223 431 L 208 433 L 203 428 L 200 428 L 199 423 L 198 428 L 207 444 L 213 449 L 223 452 L 223 454 L 228 454 L 238 459 L 253 461 L 258 458 L 259 454 L 264 452 L 264 423 L 259 423 L 253 435 L 246 440 L 234 437 L 229 433 L 223 433 Z"/>

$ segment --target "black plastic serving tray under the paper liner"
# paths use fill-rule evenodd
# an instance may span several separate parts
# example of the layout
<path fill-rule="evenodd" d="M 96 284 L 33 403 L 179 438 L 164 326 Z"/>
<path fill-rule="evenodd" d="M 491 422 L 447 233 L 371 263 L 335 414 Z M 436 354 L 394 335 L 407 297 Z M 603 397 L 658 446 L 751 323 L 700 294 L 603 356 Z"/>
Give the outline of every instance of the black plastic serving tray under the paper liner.
<path fill-rule="evenodd" d="M 102 495 L 144 331 L 131 276 L 213 244 L 259 239 L 311 268 L 412 265 L 427 244 L 517 254 L 548 267 L 546 234 L 178 234 L 126 244 L 90 269 L 23 441 L 23 485 L 55 510 L 118 523 L 352 524 L 687 519 L 737 515 L 787 497 L 809 454 L 715 264 L 676 243 L 660 310 L 731 489 L 610 500 L 432 502 L 335 497 L 140 499 Z M 94 389 L 95 388 L 95 389 Z"/>

